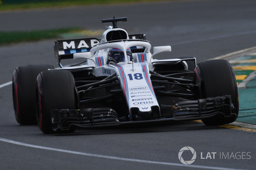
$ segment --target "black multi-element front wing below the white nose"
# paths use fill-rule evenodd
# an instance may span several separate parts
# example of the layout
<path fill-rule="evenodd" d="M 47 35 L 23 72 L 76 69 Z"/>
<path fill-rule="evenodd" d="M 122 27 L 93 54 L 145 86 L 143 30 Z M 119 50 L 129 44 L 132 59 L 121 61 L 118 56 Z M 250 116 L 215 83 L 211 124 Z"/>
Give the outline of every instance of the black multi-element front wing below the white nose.
<path fill-rule="evenodd" d="M 236 116 L 231 103 L 231 96 L 208 97 L 207 99 L 181 101 L 173 106 L 161 105 L 161 110 L 168 109 L 168 115 L 159 115 L 143 121 L 131 121 L 129 118 L 118 117 L 111 108 L 52 109 L 52 129 L 68 130 L 74 126 L 93 128 L 99 126 L 116 126 L 130 124 L 150 124 L 154 122 L 201 120 L 222 115 Z M 224 114 L 225 113 L 225 114 Z"/>

